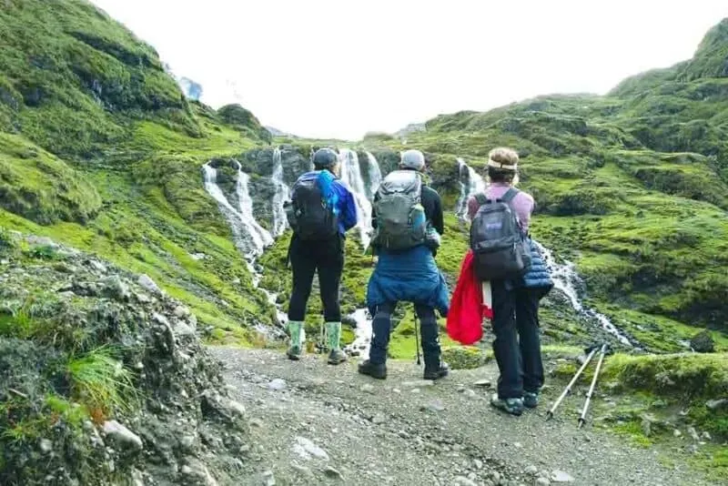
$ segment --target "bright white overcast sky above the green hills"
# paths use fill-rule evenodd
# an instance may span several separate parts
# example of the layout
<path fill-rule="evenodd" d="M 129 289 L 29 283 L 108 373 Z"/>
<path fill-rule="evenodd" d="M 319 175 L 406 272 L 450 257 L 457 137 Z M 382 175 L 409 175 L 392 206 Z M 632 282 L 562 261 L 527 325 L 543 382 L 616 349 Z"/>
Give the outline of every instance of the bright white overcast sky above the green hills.
<path fill-rule="evenodd" d="M 213 107 L 359 139 L 462 109 L 603 94 L 693 56 L 725 0 L 92 0 Z"/>

